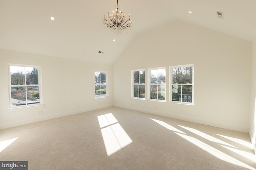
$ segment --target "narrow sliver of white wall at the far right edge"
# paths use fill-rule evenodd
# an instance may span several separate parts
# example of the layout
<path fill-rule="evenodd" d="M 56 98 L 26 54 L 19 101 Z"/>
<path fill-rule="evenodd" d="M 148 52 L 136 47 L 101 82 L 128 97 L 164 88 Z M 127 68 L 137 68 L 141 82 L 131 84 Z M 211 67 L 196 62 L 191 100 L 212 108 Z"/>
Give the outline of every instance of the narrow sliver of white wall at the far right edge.
<path fill-rule="evenodd" d="M 250 138 L 254 153 L 256 153 L 256 41 L 252 43 L 252 93 L 251 93 L 251 115 L 250 115 Z"/>

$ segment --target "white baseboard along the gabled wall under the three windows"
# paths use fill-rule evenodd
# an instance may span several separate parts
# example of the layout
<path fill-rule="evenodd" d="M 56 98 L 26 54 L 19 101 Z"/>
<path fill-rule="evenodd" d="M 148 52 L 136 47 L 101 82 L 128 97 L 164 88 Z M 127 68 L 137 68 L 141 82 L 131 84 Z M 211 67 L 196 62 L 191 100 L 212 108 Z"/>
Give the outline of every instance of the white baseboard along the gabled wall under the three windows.
<path fill-rule="evenodd" d="M 159 112 L 159 111 L 142 109 L 142 108 L 138 108 L 138 107 L 123 106 L 123 105 L 119 105 L 119 104 L 114 104 L 114 107 L 120 107 L 120 108 L 124 108 L 124 109 L 141 111 L 141 112 L 150 113 L 150 114 L 154 114 L 154 115 L 170 117 L 170 118 L 173 118 L 173 119 L 180 119 L 180 120 L 184 120 L 184 121 L 200 123 L 200 124 L 203 124 L 203 125 L 209 125 L 209 126 L 220 127 L 220 128 L 224 128 L 224 129 L 230 129 L 230 130 L 234 130 L 234 131 L 249 133 L 249 128 L 247 128 L 247 127 L 240 127 L 240 126 L 236 126 L 236 125 L 229 125 L 229 124 L 218 123 L 218 122 L 213 122 L 213 121 L 206 121 L 206 120 L 202 120 L 202 119 L 184 117 L 184 116 L 180 116 L 180 115 L 174 115 L 174 114 L 170 114 L 170 113 L 163 113 L 163 112 Z"/>

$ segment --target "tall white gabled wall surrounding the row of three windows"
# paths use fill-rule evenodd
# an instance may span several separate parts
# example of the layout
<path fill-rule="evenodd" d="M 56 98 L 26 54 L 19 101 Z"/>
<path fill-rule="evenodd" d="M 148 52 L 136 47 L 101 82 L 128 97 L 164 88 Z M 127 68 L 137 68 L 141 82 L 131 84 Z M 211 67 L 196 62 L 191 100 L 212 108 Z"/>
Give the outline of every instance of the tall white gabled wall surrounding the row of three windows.
<path fill-rule="evenodd" d="M 250 41 L 178 20 L 156 27 L 114 63 L 114 106 L 248 133 L 251 58 Z M 194 106 L 130 98 L 131 70 L 165 66 L 168 77 L 182 64 L 194 64 Z"/>

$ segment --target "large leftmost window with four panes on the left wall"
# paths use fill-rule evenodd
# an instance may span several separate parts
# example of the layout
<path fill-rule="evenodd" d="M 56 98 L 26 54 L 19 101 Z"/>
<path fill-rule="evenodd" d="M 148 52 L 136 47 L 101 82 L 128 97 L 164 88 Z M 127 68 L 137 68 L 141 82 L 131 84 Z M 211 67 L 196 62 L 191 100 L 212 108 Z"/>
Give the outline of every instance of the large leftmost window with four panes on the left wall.
<path fill-rule="evenodd" d="M 9 65 L 10 107 L 42 104 L 40 66 Z"/>

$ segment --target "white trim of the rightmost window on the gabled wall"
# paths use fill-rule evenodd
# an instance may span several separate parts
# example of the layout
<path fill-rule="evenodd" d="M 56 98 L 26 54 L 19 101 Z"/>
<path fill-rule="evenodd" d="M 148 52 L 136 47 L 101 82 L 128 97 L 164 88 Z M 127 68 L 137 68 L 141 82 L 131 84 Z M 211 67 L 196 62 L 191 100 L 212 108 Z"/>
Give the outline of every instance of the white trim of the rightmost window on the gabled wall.
<path fill-rule="evenodd" d="M 192 84 L 186 84 L 186 85 L 192 85 L 192 102 L 176 102 L 176 101 L 172 101 L 172 68 L 177 68 L 177 67 L 188 67 L 188 66 L 192 66 Z M 185 64 L 185 65 L 178 65 L 178 66 L 170 66 L 170 90 L 169 90 L 169 96 L 170 96 L 170 101 L 171 103 L 175 103 L 175 104 L 185 104 L 185 105 L 194 105 L 194 64 Z M 179 84 L 180 85 L 180 84 Z"/>

